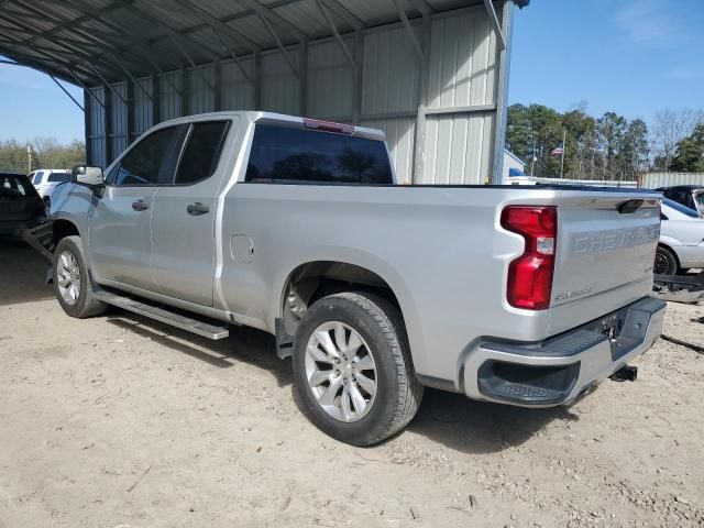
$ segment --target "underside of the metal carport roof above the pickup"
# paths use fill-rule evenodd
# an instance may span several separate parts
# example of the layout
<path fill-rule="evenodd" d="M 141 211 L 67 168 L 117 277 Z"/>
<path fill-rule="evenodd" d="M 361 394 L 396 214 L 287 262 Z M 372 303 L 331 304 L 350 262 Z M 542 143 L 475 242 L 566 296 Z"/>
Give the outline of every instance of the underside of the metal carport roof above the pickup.
<path fill-rule="evenodd" d="M 0 0 L 0 53 L 63 80 L 96 85 L 481 3 L 487 2 Z"/>

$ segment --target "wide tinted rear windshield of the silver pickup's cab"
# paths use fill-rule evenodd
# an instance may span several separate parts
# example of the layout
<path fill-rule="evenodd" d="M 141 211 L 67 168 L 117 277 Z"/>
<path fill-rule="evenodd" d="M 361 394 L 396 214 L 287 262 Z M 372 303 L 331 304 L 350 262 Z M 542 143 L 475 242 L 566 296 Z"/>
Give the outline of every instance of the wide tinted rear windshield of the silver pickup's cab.
<path fill-rule="evenodd" d="M 381 141 L 257 124 L 246 182 L 391 185 L 394 178 Z"/>

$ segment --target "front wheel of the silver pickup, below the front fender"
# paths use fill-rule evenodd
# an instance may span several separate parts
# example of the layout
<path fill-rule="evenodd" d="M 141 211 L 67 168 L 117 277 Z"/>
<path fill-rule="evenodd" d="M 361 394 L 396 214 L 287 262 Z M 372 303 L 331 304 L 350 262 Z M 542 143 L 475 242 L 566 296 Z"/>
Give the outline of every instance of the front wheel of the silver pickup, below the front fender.
<path fill-rule="evenodd" d="M 107 305 L 96 299 L 80 238 L 62 239 L 54 251 L 54 293 L 64 311 L 79 319 L 99 316 Z"/>

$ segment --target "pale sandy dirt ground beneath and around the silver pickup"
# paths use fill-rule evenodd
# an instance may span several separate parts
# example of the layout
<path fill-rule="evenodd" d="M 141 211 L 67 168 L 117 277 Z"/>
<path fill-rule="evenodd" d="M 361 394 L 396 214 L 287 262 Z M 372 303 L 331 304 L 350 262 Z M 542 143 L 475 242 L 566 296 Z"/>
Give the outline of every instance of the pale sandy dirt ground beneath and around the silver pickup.
<path fill-rule="evenodd" d="M 704 355 L 531 410 L 427 391 L 369 449 L 299 413 L 265 333 L 213 343 L 114 310 L 70 319 L 0 246 L 0 528 L 704 526 Z M 704 307 L 666 333 L 704 345 Z"/>

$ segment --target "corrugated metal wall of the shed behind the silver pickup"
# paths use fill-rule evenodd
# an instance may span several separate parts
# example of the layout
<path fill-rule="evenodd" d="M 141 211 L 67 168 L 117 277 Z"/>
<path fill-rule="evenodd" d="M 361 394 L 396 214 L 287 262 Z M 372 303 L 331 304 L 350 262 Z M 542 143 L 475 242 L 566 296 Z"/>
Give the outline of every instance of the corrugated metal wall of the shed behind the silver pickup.
<path fill-rule="evenodd" d="M 499 56 L 486 10 L 446 12 L 411 21 L 411 26 L 425 58 L 406 28 L 396 23 L 343 35 L 346 54 L 331 37 L 308 43 L 305 55 L 300 46 L 287 47 L 288 61 L 279 51 L 263 52 L 258 72 L 255 58 L 246 56 L 240 57 L 241 67 L 222 61 L 161 74 L 156 95 L 152 78 L 138 79 L 144 90 L 131 90 L 134 130 L 129 132 L 134 136 L 155 119 L 254 109 L 258 97 L 262 110 L 384 130 L 402 180 L 483 184 L 494 162 Z M 299 73 L 301 64 L 306 68 Z M 127 146 L 127 109 L 113 105 L 120 119 L 112 120 L 112 156 L 106 160 L 98 145 L 103 114 L 94 108 L 94 161 L 105 163 Z"/>

